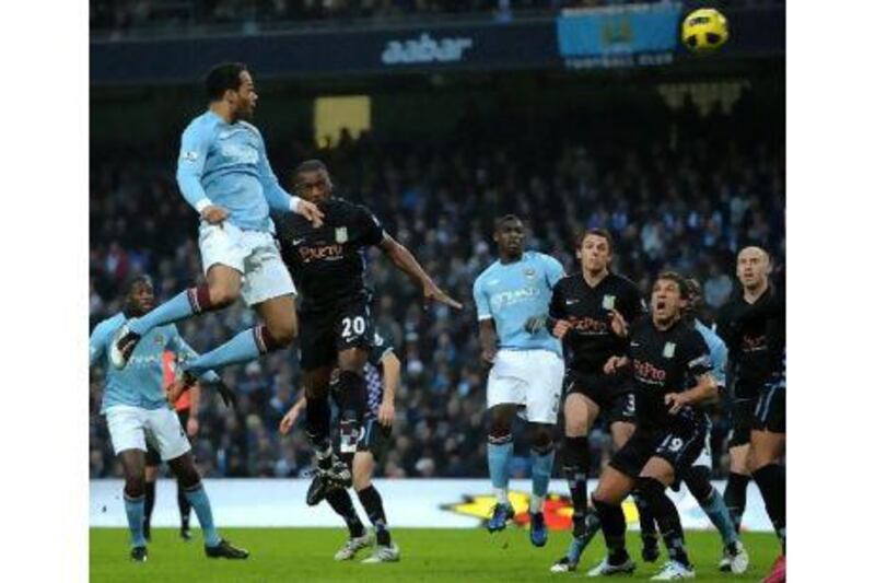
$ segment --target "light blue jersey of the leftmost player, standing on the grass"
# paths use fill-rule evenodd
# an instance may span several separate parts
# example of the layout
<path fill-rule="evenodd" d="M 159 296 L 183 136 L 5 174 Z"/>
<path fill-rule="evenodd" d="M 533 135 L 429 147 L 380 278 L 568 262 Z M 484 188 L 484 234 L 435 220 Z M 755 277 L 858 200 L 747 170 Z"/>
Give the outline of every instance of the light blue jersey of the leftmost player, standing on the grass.
<path fill-rule="evenodd" d="M 195 359 L 197 352 L 183 340 L 176 325 L 168 324 L 143 336 L 128 364 L 118 370 L 109 362 L 109 347 L 113 336 L 125 322 L 125 314 L 119 312 L 97 324 L 89 338 L 89 363 L 91 366 L 100 363 L 106 374 L 101 412 L 113 405 L 143 409 L 168 407 L 164 392 L 164 351 L 174 352 L 177 362 Z"/>

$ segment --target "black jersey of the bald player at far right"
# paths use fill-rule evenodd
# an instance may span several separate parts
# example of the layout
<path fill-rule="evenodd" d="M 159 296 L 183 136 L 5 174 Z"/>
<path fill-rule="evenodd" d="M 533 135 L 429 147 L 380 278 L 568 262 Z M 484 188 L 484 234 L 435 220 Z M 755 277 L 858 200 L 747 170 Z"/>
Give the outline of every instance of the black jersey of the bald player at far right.
<path fill-rule="evenodd" d="M 730 372 L 735 380 L 735 398 L 751 399 L 783 354 L 785 305 L 783 293 L 769 285 L 756 302 L 735 295 L 718 316 L 718 334 L 730 351 Z"/>

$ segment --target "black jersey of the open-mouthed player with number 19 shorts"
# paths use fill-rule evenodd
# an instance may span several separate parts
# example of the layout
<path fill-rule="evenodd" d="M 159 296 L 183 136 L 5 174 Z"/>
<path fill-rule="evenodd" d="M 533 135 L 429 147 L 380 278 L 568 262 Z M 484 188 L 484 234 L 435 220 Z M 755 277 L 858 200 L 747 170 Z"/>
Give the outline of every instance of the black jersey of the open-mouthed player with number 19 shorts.
<path fill-rule="evenodd" d="M 642 318 L 631 330 L 629 357 L 634 378 L 638 425 L 648 430 L 669 429 L 677 423 L 703 422 L 704 413 L 684 407 L 669 415 L 665 396 L 696 386 L 696 380 L 711 372 L 711 352 L 696 328 L 678 320 L 660 330 L 651 318 Z"/>

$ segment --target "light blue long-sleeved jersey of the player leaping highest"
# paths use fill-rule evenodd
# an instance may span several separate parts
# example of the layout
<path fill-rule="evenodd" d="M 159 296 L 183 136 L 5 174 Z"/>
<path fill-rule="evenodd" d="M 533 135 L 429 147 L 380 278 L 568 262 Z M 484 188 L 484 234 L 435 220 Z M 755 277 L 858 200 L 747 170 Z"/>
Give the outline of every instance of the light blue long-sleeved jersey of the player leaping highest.
<path fill-rule="evenodd" d="M 291 195 L 270 168 L 258 129 L 242 120 L 228 124 L 209 110 L 183 132 L 176 182 L 198 212 L 209 200 L 244 230 L 272 233 L 270 210 L 291 210 Z"/>

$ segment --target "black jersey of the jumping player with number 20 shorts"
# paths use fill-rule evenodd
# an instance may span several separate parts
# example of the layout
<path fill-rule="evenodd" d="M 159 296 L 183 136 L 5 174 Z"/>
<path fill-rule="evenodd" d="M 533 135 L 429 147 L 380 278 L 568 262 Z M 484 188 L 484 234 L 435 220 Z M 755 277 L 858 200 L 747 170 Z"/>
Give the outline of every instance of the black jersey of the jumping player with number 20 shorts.
<path fill-rule="evenodd" d="M 320 202 L 319 209 L 325 213 L 319 228 L 296 213 L 275 221 L 301 312 L 330 310 L 350 299 L 370 296 L 364 250 L 386 236 L 380 221 L 361 205 L 332 197 Z"/>

